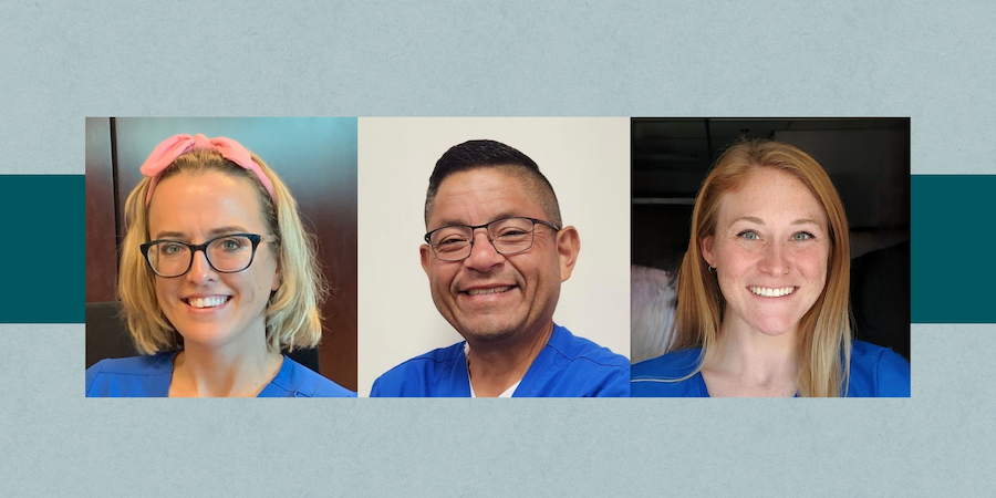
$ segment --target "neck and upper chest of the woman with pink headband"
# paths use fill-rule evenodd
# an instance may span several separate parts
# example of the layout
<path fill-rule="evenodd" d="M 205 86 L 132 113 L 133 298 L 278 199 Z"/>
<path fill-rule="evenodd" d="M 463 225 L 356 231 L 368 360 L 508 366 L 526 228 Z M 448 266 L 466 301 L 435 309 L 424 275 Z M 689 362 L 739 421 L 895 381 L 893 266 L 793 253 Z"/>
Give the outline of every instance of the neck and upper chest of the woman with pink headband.
<path fill-rule="evenodd" d="M 185 344 L 184 351 L 173 361 L 169 396 L 257 396 L 277 375 L 283 364 L 283 355 L 268 351 L 264 340 L 249 347 L 236 346 Z"/>

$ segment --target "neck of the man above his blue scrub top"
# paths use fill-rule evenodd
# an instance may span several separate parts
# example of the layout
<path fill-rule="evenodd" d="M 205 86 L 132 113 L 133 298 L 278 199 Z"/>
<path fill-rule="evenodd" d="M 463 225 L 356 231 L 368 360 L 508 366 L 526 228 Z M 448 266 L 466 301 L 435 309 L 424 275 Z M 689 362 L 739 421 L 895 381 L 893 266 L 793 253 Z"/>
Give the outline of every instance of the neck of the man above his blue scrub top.
<path fill-rule="evenodd" d="M 521 340 L 481 342 L 467 339 L 470 352 L 467 356 L 470 385 L 478 397 L 497 397 L 522 380 L 533 360 L 539 356 L 550 336 L 553 321 L 538 333 Z"/>

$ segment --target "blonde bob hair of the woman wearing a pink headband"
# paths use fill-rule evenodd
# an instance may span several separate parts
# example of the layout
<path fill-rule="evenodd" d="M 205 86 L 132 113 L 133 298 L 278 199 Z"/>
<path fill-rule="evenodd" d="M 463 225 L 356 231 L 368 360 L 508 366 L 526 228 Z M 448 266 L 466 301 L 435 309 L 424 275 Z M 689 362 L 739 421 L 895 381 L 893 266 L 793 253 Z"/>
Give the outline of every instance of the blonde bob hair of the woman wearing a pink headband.
<path fill-rule="evenodd" d="M 256 154 L 252 154 L 252 160 L 273 184 L 273 198 L 253 173 L 214 151 L 193 151 L 177 157 L 159 175 L 159 181 L 180 173 L 216 170 L 246 178 L 255 186 L 262 219 L 277 238 L 271 247 L 280 269 L 280 287 L 270 293 L 263 311 L 267 349 L 279 352 L 314 347 L 322 336 L 319 307 L 325 290 L 315 256 L 315 242 L 304 231 L 298 215 L 298 203 L 283 181 Z M 183 338 L 159 308 L 155 290 L 157 277 L 139 248 L 149 241 L 148 207 L 145 204 L 148 185 L 149 178 L 143 178 L 125 203 L 128 231 L 122 243 L 117 293 L 138 351 L 155 354 L 183 349 Z"/>

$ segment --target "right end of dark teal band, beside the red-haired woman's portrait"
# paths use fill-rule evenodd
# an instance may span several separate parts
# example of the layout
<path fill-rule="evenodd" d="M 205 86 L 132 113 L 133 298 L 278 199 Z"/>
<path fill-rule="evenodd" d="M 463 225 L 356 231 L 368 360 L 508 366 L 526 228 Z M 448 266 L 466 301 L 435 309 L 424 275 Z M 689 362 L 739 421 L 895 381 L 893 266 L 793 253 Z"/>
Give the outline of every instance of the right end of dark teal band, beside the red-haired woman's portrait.
<path fill-rule="evenodd" d="M 911 321 L 996 323 L 996 175 L 913 175 L 911 189 Z"/>

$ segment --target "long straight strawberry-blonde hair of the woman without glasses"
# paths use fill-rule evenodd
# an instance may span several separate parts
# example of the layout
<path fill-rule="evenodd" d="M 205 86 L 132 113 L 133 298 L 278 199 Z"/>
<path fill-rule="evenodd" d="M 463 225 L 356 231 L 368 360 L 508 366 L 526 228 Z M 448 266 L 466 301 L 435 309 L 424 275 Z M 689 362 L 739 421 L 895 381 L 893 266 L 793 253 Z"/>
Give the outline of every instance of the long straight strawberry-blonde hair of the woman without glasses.
<path fill-rule="evenodd" d="M 743 187 L 759 168 L 775 168 L 799 178 L 819 199 L 830 222 L 827 282 L 812 308 L 799 321 L 796 339 L 799 396 L 845 395 L 851 362 L 848 307 L 851 253 L 843 204 L 822 166 L 805 152 L 775 141 L 741 141 L 729 147 L 706 176 L 692 212 L 692 236 L 678 271 L 675 343 L 672 351 L 702 347 L 707 359 L 716 346 L 726 299 L 702 256 L 702 241 L 715 235 L 719 203 Z M 702 369 L 702 362 L 694 373 Z"/>

